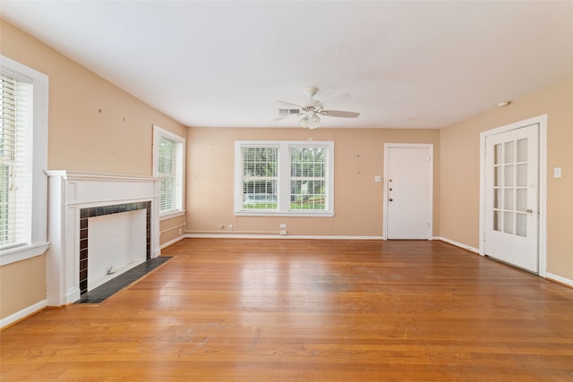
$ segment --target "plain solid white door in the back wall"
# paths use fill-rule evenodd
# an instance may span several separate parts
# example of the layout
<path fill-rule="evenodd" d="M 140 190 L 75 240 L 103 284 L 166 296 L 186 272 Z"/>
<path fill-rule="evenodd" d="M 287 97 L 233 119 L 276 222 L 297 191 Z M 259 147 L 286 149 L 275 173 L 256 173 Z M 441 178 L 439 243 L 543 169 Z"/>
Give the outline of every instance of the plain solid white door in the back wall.
<path fill-rule="evenodd" d="M 387 239 L 431 239 L 431 159 L 429 147 L 387 147 Z"/>

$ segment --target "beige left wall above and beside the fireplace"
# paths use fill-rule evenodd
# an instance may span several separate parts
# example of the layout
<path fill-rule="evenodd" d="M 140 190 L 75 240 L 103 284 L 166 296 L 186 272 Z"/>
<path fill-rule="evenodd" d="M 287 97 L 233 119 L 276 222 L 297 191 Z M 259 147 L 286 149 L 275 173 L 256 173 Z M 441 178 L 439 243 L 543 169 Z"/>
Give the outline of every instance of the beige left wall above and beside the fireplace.
<path fill-rule="evenodd" d="M 2 20 L 0 54 L 49 77 L 50 170 L 151 175 L 153 124 L 184 136 L 180 123 Z M 0 318 L 46 298 L 44 256 L 1 267 L 0 277 Z"/>

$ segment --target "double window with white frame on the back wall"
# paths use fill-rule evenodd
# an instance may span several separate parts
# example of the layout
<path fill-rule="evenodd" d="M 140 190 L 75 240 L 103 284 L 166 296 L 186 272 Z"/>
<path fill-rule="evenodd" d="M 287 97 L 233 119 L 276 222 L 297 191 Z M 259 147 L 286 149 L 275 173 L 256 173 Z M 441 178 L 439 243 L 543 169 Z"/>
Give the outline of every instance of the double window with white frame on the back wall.
<path fill-rule="evenodd" d="M 334 143 L 235 142 L 235 215 L 333 216 Z"/>

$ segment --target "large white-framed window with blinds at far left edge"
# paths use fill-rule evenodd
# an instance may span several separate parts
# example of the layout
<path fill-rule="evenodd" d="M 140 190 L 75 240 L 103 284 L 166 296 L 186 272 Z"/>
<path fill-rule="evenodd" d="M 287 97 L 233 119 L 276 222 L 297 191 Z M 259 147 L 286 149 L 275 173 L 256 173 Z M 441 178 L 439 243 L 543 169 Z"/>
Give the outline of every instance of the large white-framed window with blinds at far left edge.
<path fill-rule="evenodd" d="M 0 56 L 0 265 L 47 250 L 47 76 Z"/>

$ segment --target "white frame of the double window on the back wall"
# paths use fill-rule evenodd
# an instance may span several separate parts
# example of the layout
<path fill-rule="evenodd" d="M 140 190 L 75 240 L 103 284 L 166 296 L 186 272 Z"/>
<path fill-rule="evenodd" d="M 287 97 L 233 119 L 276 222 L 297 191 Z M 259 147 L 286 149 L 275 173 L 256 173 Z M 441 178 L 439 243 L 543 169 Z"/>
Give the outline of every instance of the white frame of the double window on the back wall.
<path fill-rule="evenodd" d="M 278 209 L 243 208 L 243 148 L 278 147 Z M 290 148 L 327 149 L 326 187 L 324 209 L 290 208 Z M 334 141 L 331 140 L 235 140 L 235 216 L 334 216 Z"/>

